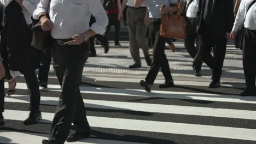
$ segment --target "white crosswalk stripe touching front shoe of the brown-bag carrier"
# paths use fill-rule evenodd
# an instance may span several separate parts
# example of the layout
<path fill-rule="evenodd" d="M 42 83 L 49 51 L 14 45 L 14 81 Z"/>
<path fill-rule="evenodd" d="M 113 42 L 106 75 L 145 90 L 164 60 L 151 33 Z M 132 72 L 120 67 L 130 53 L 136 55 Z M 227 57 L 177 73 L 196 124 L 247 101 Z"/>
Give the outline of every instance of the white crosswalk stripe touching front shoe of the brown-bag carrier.
<path fill-rule="evenodd" d="M 7 88 L 7 86 L 5 85 Z M 61 92 L 59 85 L 48 85 L 48 90 L 52 92 Z M 16 88 L 27 89 L 26 83 L 18 83 Z M 170 91 L 152 91 L 147 93 L 142 89 L 121 89 L 121 88 L 103 88 L 103 87 L 80 87 L 81 93 L 106 94 L 106 95 L 125 95 L 131 97 L 154 97 L 171 99 L 193 99 L 207 101 L 222 101 L 230 103 L 256 104 L 256 97 L 240 97 L 238 95 L 220 95 L 207 93 L 188 93 L 188 92 L 170 92 Z"/>

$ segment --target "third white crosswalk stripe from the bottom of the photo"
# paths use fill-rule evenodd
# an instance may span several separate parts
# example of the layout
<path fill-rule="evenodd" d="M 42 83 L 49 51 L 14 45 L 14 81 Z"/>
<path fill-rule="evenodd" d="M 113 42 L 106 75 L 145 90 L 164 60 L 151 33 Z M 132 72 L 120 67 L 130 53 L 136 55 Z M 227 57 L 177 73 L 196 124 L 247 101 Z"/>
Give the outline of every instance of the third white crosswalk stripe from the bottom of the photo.
<path fill-rule="evenodd" d="M 58 100 L 59 98 L 57 97 L 41 97 L 41 104 L 57 105 Z M 13 97 L 5 98 L 5 101 L 11 103 L 29 103 L 30 97 L 25 95 L 13 95 Z M 256 111 L 248 110 L 216 109 L 211 107 L 193 107 L 178 105 L 141 104 L 90 99 L 84 99 L 84 102 L 86 107 L 96 109 L 159 112 L 178 115 L 211 116 L 256 120 Z"/>

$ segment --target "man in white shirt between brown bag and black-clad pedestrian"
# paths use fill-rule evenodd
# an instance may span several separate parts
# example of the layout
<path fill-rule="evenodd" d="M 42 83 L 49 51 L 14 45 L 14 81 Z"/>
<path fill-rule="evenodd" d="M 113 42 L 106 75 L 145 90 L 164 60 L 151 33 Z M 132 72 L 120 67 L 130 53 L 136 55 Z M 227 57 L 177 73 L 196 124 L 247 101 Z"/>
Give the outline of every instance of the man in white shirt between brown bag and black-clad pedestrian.
<path fill-rule="evenodd" d="M 196 34 L 196 14 L 199 8 L 199 0 L 183 0 L 180 2 L 180 6 L 187 2 L 183 9 L 186 17 L 186 38 L 184 40 L 185 49 L 187 49 L 189 55 L 194 58 L 193 69 L 195 76 L 201 76 L 202 58 L 197 55 L 197 47 L 195 46 Z M 181 6 L 182 7 L 182 6 Z M 184 7 L 184 6 L 183 6 Z M 182 13 L 182 12 L 180 12 Z"/>

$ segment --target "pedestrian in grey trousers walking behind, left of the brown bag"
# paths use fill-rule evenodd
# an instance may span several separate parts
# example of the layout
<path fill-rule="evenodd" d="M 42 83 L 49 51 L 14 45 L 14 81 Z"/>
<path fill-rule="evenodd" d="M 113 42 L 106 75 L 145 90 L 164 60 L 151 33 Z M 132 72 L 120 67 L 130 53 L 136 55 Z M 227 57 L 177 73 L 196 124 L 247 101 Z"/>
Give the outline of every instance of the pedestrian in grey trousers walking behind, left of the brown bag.
<path fill-rule="evenodd" d="M 141 57 L 139 56 L 139 47 L 142 48 L 144 57 L 146 59 L 147 65 L 150 66 L 152 60 L 149 56 L 148 40 L 146 38 L 145 32 L 147 30 L 146 22 L 144 21 L 145 15 L 147 13 L 147 7 L 142 4 L 139 8 L 134 7 L 134 0 L 124 0 L 122 4 L 121 14 L 127 5 L 126 19 L 129 31 L 129 41 L 130 41 L 130 52 L 135 62 L 129 65 L 129 68 L 141 68 Z M 123 15 L 119 17 L 120 21 L 123 20 Z"/>

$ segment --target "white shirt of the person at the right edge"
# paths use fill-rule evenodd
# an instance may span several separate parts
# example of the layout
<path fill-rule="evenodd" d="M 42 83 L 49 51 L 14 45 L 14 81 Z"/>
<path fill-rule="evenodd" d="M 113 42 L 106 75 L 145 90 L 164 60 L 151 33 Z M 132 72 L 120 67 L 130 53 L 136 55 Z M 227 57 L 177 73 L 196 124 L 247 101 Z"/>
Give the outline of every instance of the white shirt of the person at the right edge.
<path fill-rule="evenodd" d="M 249 11 L 246 14 L 246 11 L 249 8 L 249 5 L 253 0 L 243 0 L 241 1 L 240 7 L 237 11 L 236 20 L 232 31 L 237 32 L 239 27 L 244 25 L 245 28 L 256 30 L 256 3 L 252 5 Z"/>

